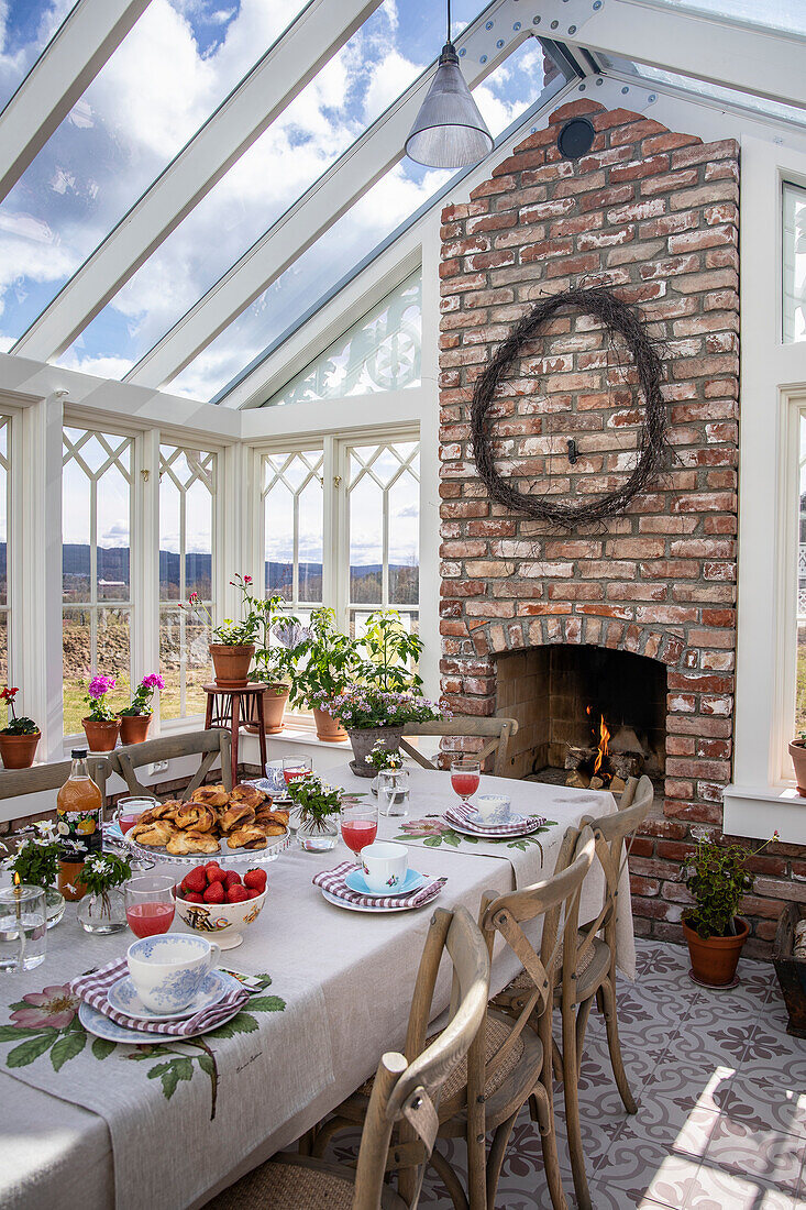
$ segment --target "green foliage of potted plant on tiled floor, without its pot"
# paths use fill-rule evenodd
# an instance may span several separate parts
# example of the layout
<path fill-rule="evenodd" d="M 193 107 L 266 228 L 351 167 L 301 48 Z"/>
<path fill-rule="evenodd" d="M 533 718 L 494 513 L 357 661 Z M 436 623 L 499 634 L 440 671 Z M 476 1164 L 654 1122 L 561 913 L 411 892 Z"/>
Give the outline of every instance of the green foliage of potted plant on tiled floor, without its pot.
<path fill-rule="evenodd" d="M 770 840 L 753 853 L 739 845 L 719 845 L 709 840 L 704 829 L 692 829 L 697 847 L 683 869 L 684 882 L 695 899 L 695 906 L 683 914 L 690 928 L 703 939 L 709 937 L 736 937 L 736 915 L 744 895 L 749 895 L 755 875 L 748 862 L 762 848 L 778 839 Z"/>

